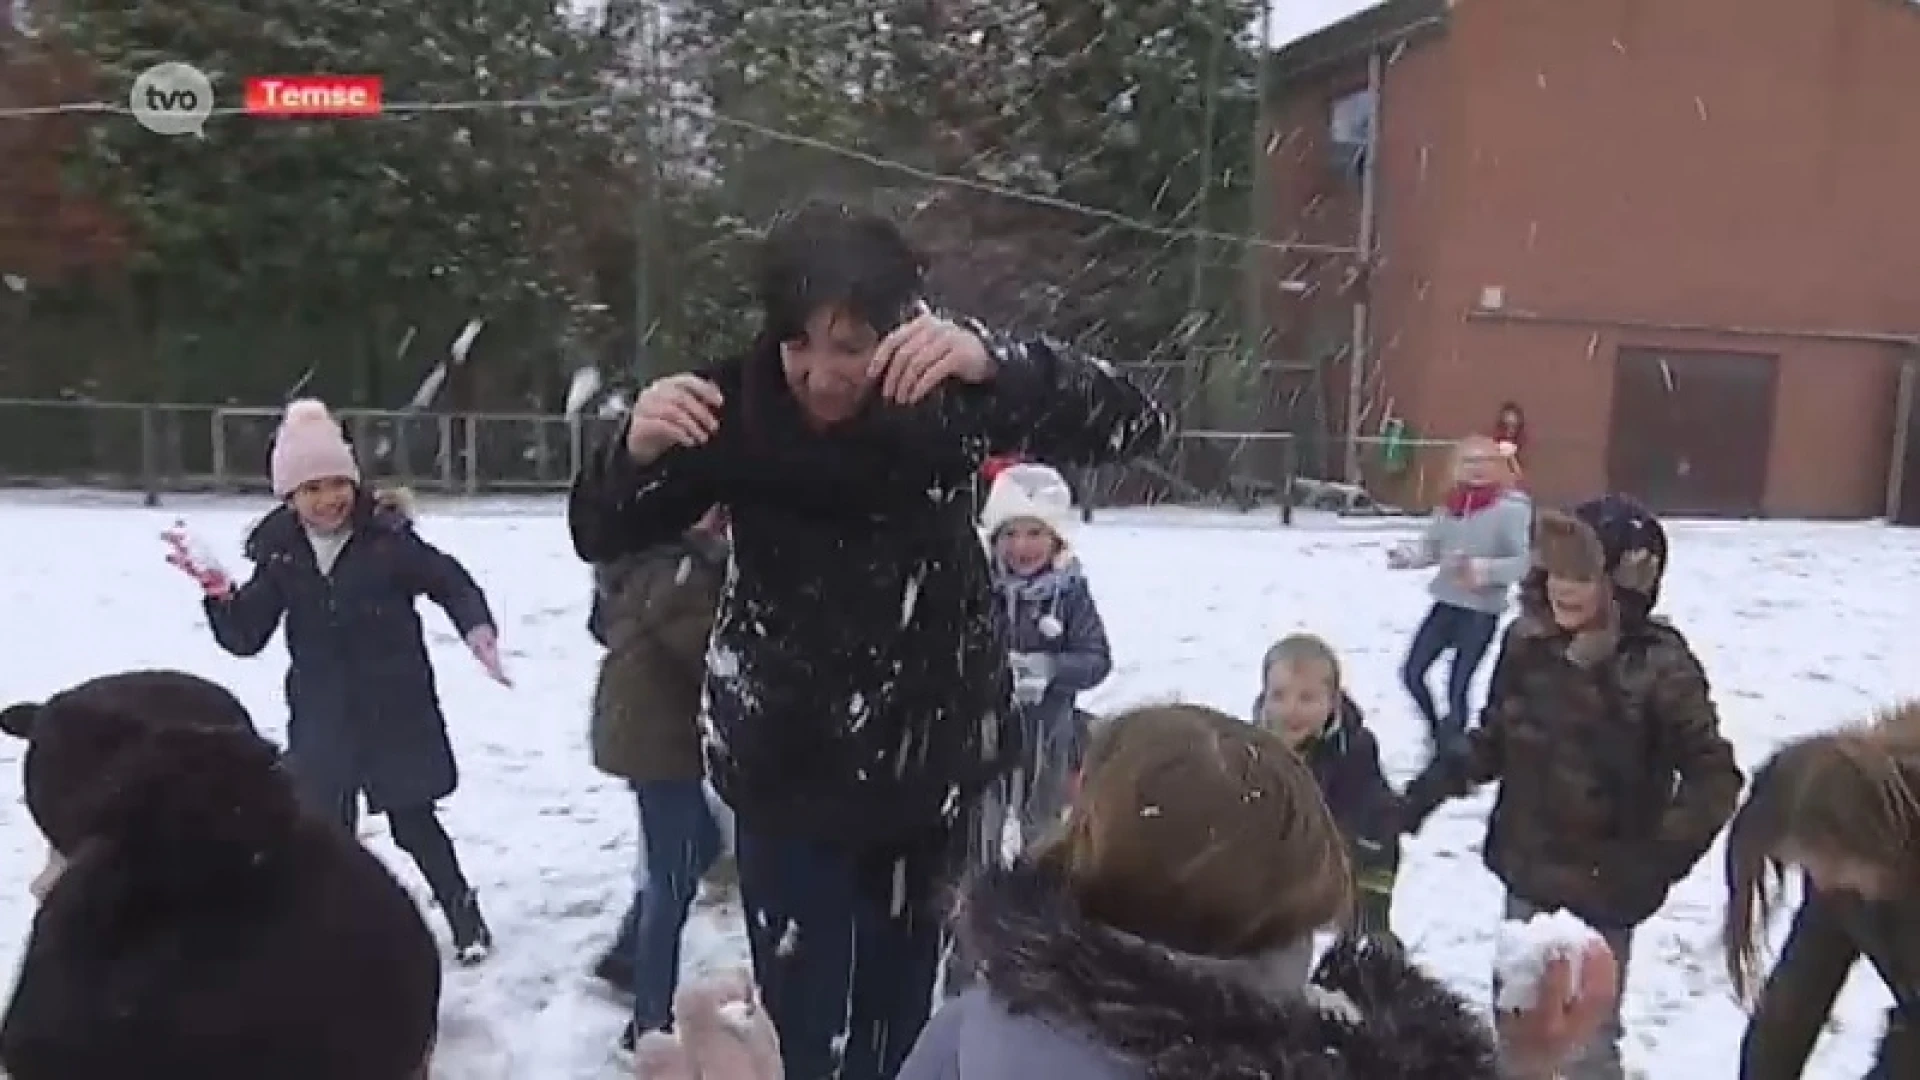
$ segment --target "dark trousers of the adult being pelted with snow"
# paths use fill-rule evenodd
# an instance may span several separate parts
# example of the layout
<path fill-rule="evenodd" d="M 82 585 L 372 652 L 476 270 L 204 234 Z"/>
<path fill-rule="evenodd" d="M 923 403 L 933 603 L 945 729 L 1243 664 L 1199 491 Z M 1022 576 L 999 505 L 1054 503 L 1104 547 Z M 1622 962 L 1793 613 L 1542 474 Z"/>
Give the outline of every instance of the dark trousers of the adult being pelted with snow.
<path fill-rule="evenodd" d="M 785 1080 L 899 1074 L 933 1011 L 952 847 L 937 830 L 899 853 L 851 853 L 737 822 L 747 944 Z"/>

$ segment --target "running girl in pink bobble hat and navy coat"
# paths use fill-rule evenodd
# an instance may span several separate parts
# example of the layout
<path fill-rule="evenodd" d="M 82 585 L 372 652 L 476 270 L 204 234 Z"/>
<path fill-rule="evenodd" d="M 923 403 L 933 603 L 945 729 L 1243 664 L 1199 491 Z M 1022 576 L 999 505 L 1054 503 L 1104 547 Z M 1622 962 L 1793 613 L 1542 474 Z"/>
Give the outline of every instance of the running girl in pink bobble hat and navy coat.
<path fill-rule="evenodd" d="M 493 934 L 440 824 L 459 782 L 415 598 L 438 603 L 497 682 L 493 615 L 472 575 L 413 528 L 405 500 L 361 486 L 340 425 L 321 402 L 294 402 L 273 444 L 282 505 L 253 527 L 253 577 L 232 578 L 184 530 L 167 561 L 200 582 L 213 640 L 257 655 L 286 626 L 288 771 L 321 817 L 353 828 L 359 799 L 384 813 L 453 930 L 461 963 Z"/>

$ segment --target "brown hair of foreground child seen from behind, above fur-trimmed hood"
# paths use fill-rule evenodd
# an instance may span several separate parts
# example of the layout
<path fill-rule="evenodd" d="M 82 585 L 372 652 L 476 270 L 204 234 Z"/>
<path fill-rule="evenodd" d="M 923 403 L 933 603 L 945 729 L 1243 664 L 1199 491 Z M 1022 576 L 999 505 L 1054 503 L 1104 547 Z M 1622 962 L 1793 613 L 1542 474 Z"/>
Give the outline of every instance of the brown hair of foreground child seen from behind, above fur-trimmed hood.
<path fill-rule="evenodd" d="M 1352 911 L 1313 774 L 1279 736 L 1204 705 L 1110 721 L 1035 859 L 1094 920 L 1208 957 L 1284 947 Z"/>

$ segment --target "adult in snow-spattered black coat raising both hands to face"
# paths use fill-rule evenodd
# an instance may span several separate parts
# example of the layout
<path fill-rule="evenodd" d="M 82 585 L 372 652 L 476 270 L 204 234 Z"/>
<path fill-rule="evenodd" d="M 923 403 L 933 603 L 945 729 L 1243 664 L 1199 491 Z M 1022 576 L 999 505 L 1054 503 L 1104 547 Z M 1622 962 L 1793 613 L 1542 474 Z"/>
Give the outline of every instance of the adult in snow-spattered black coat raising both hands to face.
<path fill-rule="evenodd" d="M 603 563 L 732 511 L 708 765 L 755 974 L 789 1080 L 831 1074 L 843 1028 L 839 1076 L 891 1078 L 931 1005 L 958 819 L 1018 751 L 981 461 L 1117 461 L 1167 419 L 1096 359 L 931 315 L 885 219 L 812 206 L 762 259 L 755 346 L 649 386 L 568 523 Z"/>

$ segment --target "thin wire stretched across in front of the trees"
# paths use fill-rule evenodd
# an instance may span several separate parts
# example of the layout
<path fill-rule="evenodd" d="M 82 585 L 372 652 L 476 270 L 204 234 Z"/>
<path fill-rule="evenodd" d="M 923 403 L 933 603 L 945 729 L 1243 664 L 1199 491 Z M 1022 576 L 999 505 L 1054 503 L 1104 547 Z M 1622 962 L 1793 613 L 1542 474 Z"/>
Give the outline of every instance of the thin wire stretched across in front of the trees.
<path fill-rule="evenodd" d="M 574 98 L 476 98 L 476 100 L 447 100 L 447 102 L 382 102 L 378 115 L 419 115 L 419 113 L 476 113 L 476 111 L 516 111 L 516 110 L 580 110 L 597 106 L 614 106 L 630 100 L 637 100 L 643 94 L 637 90 L 609 90 L 605 94 L 574 96 Z M 712 121 L 722 127 L 732 127 L 735 131 L 745 131 L 749 135 L 758 135 L 772 142 L 783 142 L 787 146 L 801 146 L 806 150 L 818 150 L 822 154 L 831 154 L 849 161 L 860 161 L 883 173 L 893 173 L 899 177 L 910 177 L 927 184 L 941 184 L 952 188 L 973 190 L 979 194 L 989 194 L 995 198 L 1004 198 L 1010 202 L 1023 202 L 1027 206 L 1039 206 L 1046 209 L 1060 209 L 1066 213 L 1077 213 L 1081 217 L 1091 217 L 1094 221 L 1106 221 L 1133 233 L 1144 233 L 1148 236 L 1162 236 L 1165 240 L 1206 240 L 1215 244 L 1240 244 L 1248 248 L 1261 248 L 1269 252 L 1288 252 L 1306 256 L 1357 256 L 1359 248 L 1346 244 L 1306 244 L 1290 240 L 1265 240 L 1260 236 L 1242 236 L 1236 233 L 1215 233 L 1212 229 L 1183 229 L 1175 225 L 1164 225 L 1158 221 L 1146 221 L 1142 217 L 1133 217 L 1117 209 L 1106 209 L 1100 206 L 1089 206 L 1083 202 L 1073 202 L 1060 196 L 1050 196 L 1044 192 L 1021 190 L 1006 184 L 996 184 L 993 181 L 981 181 L 977 177 L 964 177 L 958 173 L 939 173 L 933 169 L 922 169 L 908 161 L 899 161 L 895 158 L 885 158 L 881 154 L 870 154 L 854 146 L 845 146 L 831 142 L 828 138 L 816 138 L 812 135 L 801 135 L 797 131 L 783 131 L 764 123 L 755 123 L 751 119 L 741 119 L 726 115 L 716 110 L 697 110 L 684 102 L 666 102 L 666 110 L 682 115 L 691 115 L 697 119 Z M 50 117 L 50 115 L 113 115 L 113 117 L 132 117 L 134 111 L 127 106 L 115 106 L 111 102 L 60 102 L 52 106 L 4 106 L 0 108 L 0 119 L 29 119 L 29 117 Z M 211 110 L 209 117 L 230 117 L 230 115 L 253 115 L 240 106 L 223 106 Z M 271 117 L 280 121 L 284 117 Z"/>

